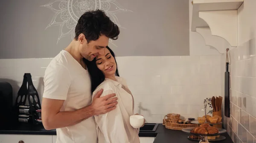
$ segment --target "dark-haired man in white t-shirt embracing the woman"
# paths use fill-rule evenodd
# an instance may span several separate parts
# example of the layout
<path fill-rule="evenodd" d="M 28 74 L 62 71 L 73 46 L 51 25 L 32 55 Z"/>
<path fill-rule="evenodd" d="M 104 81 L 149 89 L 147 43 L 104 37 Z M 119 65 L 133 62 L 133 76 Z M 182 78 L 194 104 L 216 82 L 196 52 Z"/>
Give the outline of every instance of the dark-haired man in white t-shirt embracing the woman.
<path fill-rule="evenodd" d="M 83 58 L 92 61 L 102 54 L 109 39 L 117 39 L 119 28 L 103 11 L 85 12 L 78 20 L 76 36 L 48 65 L 44 76 L 42 121 L 45 129 L 56 129 L 56 143 L 97 143 L 93 116 L 116 108 L 115 94 L 92 101 L 90 76 Z"/>

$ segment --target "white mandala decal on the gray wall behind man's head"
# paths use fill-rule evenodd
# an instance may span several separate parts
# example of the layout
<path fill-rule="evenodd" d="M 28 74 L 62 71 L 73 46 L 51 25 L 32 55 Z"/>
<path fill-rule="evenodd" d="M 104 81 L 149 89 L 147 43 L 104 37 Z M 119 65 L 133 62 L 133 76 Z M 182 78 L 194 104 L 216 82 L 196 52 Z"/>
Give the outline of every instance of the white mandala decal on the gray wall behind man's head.
<path fill-rule="evenodd" d="M 43 6 L 55 13 L 52 17 L 52 21 L 47 25 L 47 28 L 59 26 L 57 44 L 64 36 L 70 35 L 71 39 L 74 39 L 76 23 L 79 17 L 86 11 L 96 9 L 105 11 L 105 14 L 108 15 L 119 28 L 123 27 L 120 25 L 116 14 L 130 11 L 122 8 L 116 0 L 52 0 Z M 109 42 L 115 45 L 111 39 Z"/>

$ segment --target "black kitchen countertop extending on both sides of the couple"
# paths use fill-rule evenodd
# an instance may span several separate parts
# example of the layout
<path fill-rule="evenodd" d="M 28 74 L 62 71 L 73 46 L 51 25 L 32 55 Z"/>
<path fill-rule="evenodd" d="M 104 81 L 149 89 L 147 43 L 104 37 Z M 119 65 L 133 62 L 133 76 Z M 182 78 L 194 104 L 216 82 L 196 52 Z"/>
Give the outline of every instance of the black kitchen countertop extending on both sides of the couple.
<path fill-rule="evenodd" d="M 1 126 L 0 134 L 20 134 L 20 135 L 56 135 L 56 130 L 46 130 L 42 125 L 32 125 L 27 123 L 12 124 L 12 126 Z M 166 129 L 159 124 L 156 132 L 140 132 L 140 137 L 155 137 L 154 143 L 198 143 L 198 141 L 188 140 L 189 134 L 182 131 Z M 233 143 L 227 133 L 223 134 L 226 140 L 218 143 Z"/>

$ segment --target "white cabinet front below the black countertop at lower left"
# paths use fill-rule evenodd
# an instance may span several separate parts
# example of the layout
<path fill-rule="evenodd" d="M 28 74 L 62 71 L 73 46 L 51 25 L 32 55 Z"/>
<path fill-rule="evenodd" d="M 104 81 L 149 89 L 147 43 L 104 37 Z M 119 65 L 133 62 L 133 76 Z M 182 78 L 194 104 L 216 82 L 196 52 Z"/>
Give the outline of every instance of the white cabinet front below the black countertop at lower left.
<path fill-rule="evenodd" d="M 52 143 L 52 135 L 0 135 L 0 143 Z"/>

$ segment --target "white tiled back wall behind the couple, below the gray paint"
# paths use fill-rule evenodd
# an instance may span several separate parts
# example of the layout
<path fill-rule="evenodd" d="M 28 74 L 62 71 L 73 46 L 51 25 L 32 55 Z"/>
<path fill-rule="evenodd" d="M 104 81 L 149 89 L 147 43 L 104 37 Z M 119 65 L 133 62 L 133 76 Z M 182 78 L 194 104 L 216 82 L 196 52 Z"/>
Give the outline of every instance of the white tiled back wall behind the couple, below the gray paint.
<path fill-rule="evenodd" d="M 147 122 L 161 123 L 167 113 L 184 118 L 203 116 L 205 98 L 221 94 L 221 55 L 117 57 L 119 73 L 134 95 L 135 111 Z M 0 59 L 0 80 L 14 87 L 31 73 L 40 97 L 44 71 L 51 59 Z M 15 99 L 14 98 L 14 99 Z M 41 99 L 40 98 L 40 99 Z"/>

